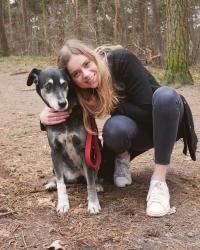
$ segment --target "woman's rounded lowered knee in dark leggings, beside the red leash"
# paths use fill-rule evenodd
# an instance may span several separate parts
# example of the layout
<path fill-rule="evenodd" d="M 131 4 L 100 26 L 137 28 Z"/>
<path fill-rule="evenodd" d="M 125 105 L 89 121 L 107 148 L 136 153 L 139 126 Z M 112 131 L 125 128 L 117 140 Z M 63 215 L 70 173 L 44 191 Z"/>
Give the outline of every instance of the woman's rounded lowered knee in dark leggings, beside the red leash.
<path fill-rule="evenodd" d="M 136 130 L 137 125 L 131 118 L 113 116 L 106 121 L 103 128 L 104 143 L 115 152 L 128 150 Z"/>

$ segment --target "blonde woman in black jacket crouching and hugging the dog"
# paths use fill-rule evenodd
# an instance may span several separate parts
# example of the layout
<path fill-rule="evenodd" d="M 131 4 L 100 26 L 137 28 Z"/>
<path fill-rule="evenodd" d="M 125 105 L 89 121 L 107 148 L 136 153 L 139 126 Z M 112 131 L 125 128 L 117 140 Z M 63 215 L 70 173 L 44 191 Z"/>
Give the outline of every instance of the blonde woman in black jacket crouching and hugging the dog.
<path fill-rule="evenodd" d="M 111 114 L 103 128 L 103 158 L 106 153 L 114 155 L 116 186 L 132 183 L 130 160 L 154 147 L 155 168 L 146 212 L 153 217 L 166 215 L 170 210 L 166 173 L 178 138 L 185 138 L 184 149 L 189 144 L 190 154 L 195 159 L 197 140 L 185 99 L 172 88 L 160 87 L 137 57 L 124 48 L 100 48 L 95 52 L 78 40 L 68 40 L 60 50 L 58 66 L 66 69 L 76 86 L 87 130 L 90 129 L 89 116 L 104 118 Z M 189 120 L 185 106 L 191 116 Z M 44 125 L 61 123 L 70 112 L 73 110 L 55 112 L 45 107 L 40 120 Z M 187 130 L 187 125 L 192 131 Z M 193 147 L 188 143 L 188 135 Z"/>

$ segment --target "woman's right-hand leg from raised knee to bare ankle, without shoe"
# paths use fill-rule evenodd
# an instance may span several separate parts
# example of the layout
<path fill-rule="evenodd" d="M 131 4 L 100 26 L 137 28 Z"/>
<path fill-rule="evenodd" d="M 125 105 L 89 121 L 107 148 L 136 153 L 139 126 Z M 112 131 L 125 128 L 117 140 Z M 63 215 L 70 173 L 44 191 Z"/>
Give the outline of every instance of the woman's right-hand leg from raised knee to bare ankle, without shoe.
<path fill-rule="evenodd" d="M 174 89 L 161 87 L 155 91 L 153 95 L 153 141 L 158 174 L 161 166 L 163 166 L 163 172 L 166 172 L 166 166 L 170 163 L 183 112 L 182 99 Z M 153 173 L 153 179 L 159 178 L 156 172 L 157 168 Z M 165 180 L 165 175 L 161 174 L 160 178 Z"/>

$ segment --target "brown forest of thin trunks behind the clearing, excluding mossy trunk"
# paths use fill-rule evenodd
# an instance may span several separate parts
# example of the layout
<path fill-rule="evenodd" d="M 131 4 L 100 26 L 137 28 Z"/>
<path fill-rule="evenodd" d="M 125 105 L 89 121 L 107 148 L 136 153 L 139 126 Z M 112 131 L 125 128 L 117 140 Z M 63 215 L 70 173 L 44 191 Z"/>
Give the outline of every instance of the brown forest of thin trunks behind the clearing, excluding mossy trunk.
<path fill-rule="evenodd" d="M 189 65 L 200 62 L 199 0 L 1 0 L 0 3 L 0 54 L 4 56 L 55 55 L 65 39 L 78 38 L 94 47 L 121 44 L 144 63 L 164 66 L 169 33 L 174 35 L 177 30 L 176 22 L 168 21 L 173 18 L 172 13 L 176 20 L 181 15 L 184 18 L 178 24 L 182 25 L 178 32 L 186 29 L 187 39 L 181 42 L 187 43 Z M 183 7 L 182 12 L 179 6 Z"/>

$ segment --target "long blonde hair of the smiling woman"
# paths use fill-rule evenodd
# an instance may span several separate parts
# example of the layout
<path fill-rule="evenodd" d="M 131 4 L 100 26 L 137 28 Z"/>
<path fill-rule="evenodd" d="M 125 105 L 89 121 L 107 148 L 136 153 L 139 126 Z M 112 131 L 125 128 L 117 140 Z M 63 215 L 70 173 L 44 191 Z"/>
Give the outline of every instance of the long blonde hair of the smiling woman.
<path fill-rule="evenodd" d="M 79 40 L 67 40 L 58 54 L 58 66 L 67 68 L 72 55 L 84 55 L 97 65 L 98 87 L 96 89 L 82 89 L 75 86 L 78 101 L 83 108 L 84 126 L 87 131 L 92 132 L 90 116 L 105 118 L 118 104 L 118 95 L 112 84 L 108 65 L 97 52 Z"/>

